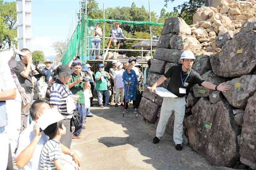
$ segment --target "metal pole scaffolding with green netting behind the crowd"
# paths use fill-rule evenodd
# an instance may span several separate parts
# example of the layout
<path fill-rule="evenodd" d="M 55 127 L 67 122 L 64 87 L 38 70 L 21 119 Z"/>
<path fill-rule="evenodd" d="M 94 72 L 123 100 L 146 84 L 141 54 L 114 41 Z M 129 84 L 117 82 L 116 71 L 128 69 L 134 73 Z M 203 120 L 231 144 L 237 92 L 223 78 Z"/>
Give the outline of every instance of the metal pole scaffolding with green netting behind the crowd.
<path fill-rule="evenodd" d="M 89 63 L 105 63 L 105 62 L 112 62 L 113 60 L 105 60 L 106 59 L 106 51 L 141 51 L 142 54 L 142 60 L 138 60 L 138 63 L 146 63 L 146 60 L 143 60 L 143 52 L 150 52 L 151 54 L 151 58 L 153 58 L 153 52 L 155 52 L 155 50 L 153 50 L 152 48 L 152 41 L 158 41 L 158 40 L 153 40 L 152 39 L 152 25 L 156 25 L 156 26 L 163 26 L 163 23 L 156 23 L 156 22 L 152 22 L 151 21 L 151 11 L 150 11 L 150 1 L 148 1 L 148 5 L 149 5 L 149 21 L 142 21 L 142 22 L 137 22 L 137 21 L 124 21 L 124 20 L 116 20 L 116 19 L 105 19 L 105 6 L 103 4 L 103 19 L 92 19 L 87 17 L 87 1 L 85 0 L 85 14 L 83 16 L 81 16 L 81 1 L 80 1 L 80 20 L 79 23 L 76 26 L 76 29 L 74 31 L 72 31 L 72 28 L 69 29 L 69 33 L 68 33 L 68 38 L 67 41 L 68 45 L 67 45 L 67 49 L 64 52 L 64 55 L 62 57 L 62 64 L 67 64 L 71 61 L 71 59 L 74 56 L 79 55 L 80 58 L 82 59 L 82 61 L 84 62 L 89 62 Z M 72 19 L 73 20 L 73 19 Z M 105 39 L 112 39 L 112 37 L 108 37 L 105 34 L 105 22 L 120 22 L 120 23 L 127 23 L 130 25 L 149 25 L 149 29 L 150 29 L 150 39 L 137 39 L 137 38 L 115 38 L 115 39 L 120 39 L 120 40 L 139 40 L 139 41 L 150 41 L 150 49 L 146 50 L 146 49 L 105 49 Z M 73 22 L 73 21 L 72 21 Z M 103 35 L 102 37 L 95 37 L 95 36 L 91 36 L 90 32 L 90 24 L 92 26 L 92 23 L 96 23 L 96 22 L 103 22 Z M 94 24 L 93 24 L 94 25 Z M 73 34 L 71 35 L 71 31 L 73 32 Z M 92 38 L 100 38 L 103 41 L 103 48 L 90 48 L 90 40 L 92 40 Z M 89 60 L 89 54 L 90 54 L 90 50 L 102 50 L 103 51 L 103 60 Z M 120 60 L 122 62 L 127 62 L 128 60 Z"/>

